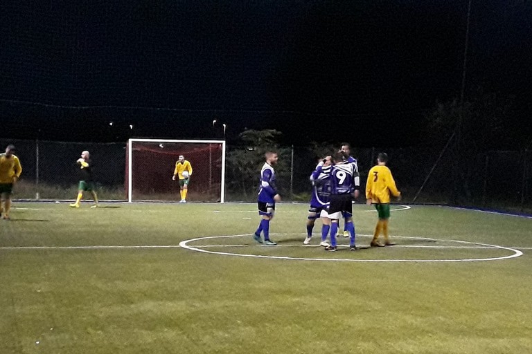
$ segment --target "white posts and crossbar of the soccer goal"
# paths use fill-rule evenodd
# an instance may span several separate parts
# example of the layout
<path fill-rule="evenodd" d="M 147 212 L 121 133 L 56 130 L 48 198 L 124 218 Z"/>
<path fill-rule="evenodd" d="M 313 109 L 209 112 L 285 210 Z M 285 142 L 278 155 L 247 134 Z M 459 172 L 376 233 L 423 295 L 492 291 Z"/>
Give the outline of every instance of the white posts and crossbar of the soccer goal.
<path fill-rule="evenodd" d="M 220 180 L 220 203 L 225 199 L 225 140 L 177 140 L 177 139 L 149 139 L 149 138 L 130 138 L 127 140 L 127 201 L 133 203 L 133 143 L 134 142 L 181 142 L 191 144 L 222 144 L 222 178 Z"/>

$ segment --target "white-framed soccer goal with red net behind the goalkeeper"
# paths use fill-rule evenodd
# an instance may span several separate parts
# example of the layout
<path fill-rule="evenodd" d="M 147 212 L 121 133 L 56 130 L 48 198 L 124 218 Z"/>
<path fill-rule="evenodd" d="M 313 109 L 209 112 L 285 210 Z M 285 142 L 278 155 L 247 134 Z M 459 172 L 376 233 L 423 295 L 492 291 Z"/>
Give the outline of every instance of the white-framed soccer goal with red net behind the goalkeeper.
<path fill-rule="evenodd" d="M 172 180 L 179 155 L 193 169 L 187 201 L 224 203 L 224 140 L 128 140 L 127 201 L 179 201 L 179 180 Z"/>

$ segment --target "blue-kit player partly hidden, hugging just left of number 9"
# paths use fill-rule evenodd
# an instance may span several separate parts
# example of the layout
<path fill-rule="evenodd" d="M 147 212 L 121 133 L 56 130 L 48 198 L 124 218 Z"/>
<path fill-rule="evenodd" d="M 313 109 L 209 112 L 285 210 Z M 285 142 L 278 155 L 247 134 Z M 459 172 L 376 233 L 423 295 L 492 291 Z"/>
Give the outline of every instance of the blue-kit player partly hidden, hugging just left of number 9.
<path fill-rule="evenodd" d="M 307 238 L 303 241 L 303 245 L 310 244 L 312 239 L 312 230 L 317 218 L 321 218 L 323 225 L 321 226 L 321 243 L 323 247 L 327 247 L 327 234 L 330 229 L 330 220 L 328 218 L 327 209 L 329 207 L 330 198 L 330 156 L 321 160 L 316 169 L 310 175 L 312 182 L 312 197 L 310 198 L 310 208 L 307 216 Z"/>

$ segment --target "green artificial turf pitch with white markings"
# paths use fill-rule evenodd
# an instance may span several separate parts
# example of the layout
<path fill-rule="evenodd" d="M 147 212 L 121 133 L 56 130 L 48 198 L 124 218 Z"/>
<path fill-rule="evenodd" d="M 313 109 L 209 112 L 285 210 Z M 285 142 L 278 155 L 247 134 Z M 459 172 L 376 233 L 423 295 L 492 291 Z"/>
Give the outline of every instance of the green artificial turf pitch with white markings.
<path fill-rule="evenodd" d="M 396 246 L 326 252 L 307 205 L 264 246 L 254 204 L 15 203 L 0 353 L 532 353 L 532 218 L 392 210 Z"/>

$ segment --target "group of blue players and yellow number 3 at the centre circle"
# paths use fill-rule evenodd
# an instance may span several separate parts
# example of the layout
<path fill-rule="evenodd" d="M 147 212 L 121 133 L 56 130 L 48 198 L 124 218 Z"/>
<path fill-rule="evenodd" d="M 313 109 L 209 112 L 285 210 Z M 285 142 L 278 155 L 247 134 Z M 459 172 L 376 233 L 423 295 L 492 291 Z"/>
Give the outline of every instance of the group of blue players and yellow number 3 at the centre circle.
<path fill-rule="evenodd" d="M 353 200 L 360 196 L 360 174 L 357 160 L 350 156 L 350 146 L 342 144 L 342 149 L 332 156 L 321 160 L 310 175 L 312 197 L 308 210 L 307 236 L 304 245 L 310 244 L 312 230 L 317 218 L 321 218 L 320 245 L 327 251 L 337 250 L 337 232 L 340 218 L 344 219 L 344 236 L 349 237 L 349 250 L 357 250 L 355 244 L 355 225 L 353 224 Z M 276 245 L 269 238 L 269 222 L 274 217 L 275 203 L 281 201 L 275 183 L 274 165 L 278 160 L 277 153 L 266 153 L 266 162 L 260 171 L 258 192 L 258 212 L 262 220 L 253 237 L 258 243 Z M 366 203 L 375 205 L 378 212 L 378 223 L 375 226 L 371 247 L 393 245 L 389 239 L 388 221 L 390 218 L 390 194 L 400 198 L 400 192 L 390 169 L 386 166 L 388 156 L 379 153 L 378 164 L 372 167 L 366 182 Z M 378 241 L 380 234 L 384 243 Z M 260 236 L 263 234 L 263 238 Z M 327 237 L 330 238 L 330 243 Z"/>

